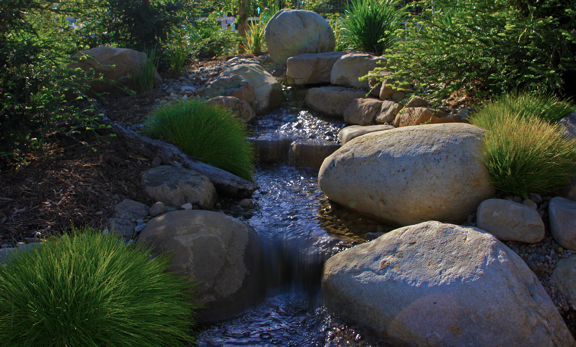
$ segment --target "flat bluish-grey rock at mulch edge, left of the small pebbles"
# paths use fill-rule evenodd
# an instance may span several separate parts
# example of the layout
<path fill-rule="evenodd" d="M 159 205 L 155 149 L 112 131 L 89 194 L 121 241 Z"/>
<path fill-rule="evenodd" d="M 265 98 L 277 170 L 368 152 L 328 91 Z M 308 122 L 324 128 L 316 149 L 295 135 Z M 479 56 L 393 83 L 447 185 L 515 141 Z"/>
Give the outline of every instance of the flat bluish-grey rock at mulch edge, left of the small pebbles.
<path fill-rule="evenodd" d="M 114 215 L 108 221 L 110 232 L 117 234 L 122 241 L 127 242 L 134 234 L 137 223 L 132 219 L 144 219 L 148 215 L 149 207 L 134 200 L 124 199 L 114 206 Z"/>

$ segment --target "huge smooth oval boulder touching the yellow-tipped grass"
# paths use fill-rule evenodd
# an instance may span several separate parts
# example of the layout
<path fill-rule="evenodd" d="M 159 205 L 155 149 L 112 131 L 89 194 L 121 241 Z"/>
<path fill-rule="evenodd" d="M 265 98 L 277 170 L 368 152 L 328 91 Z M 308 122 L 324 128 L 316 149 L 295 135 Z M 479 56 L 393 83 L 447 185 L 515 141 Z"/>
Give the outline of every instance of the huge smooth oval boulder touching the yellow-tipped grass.
<path fill-rule="evenodd" d="M 324 160 L 318 182 L 340 205 L 392 225 L 460 223 L 496 192 L 483 136 L 470 124 L 365 134 Z"/>

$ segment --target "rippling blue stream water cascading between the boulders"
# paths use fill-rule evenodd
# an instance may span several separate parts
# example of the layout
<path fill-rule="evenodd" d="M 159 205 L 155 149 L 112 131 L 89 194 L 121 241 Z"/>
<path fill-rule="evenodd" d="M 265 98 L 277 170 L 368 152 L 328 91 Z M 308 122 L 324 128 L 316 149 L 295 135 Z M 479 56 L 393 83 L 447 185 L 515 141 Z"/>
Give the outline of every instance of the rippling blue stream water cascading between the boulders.
<path fill-rule="evenodd" d="M 343 127 L 308 111 L 277 110 L 254 127 L 255 138 L 287 136 L 336 141 Z M 242 219 L 263 241 L 265 295 L 237 317 L 204 323 L 199 346 L 404 346 L 361 326 L 341 321 L 322 304 L 325 259 L 355 243 L 330 236 L 317 215 L 326 201 L 318 169 L 282 163 L 257 168 L 253 217 Z M 410 345 L 406 345 L 410 346 Z"/>

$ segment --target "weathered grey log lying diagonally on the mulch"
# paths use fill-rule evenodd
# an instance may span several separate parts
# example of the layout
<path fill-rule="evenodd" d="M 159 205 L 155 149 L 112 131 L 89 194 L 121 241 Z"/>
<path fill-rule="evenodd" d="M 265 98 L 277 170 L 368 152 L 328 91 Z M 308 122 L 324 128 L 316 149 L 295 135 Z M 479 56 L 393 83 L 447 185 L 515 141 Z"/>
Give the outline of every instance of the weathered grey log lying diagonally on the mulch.
<path fill-rule="evenodd" d="M 202 175 L 210 179 L 210 182 L 214 184 L 214 187 L 216 187 L 216 190 L 220 194 L 244 198 L 245 196 L 252 195 L 255 190 L 260 188 L 256 184 L 248 182 L 233 173 L 210 164 L 202 163 L 202 161 L 199 161 L 173 144 L 139 135 L 132 130 L 123 128 L 115 122 L 110 121 L 105 115 L 103 115 L 102 119 L 104 124 L 111 126 L 110 130 L 112 130 L 113 133 L 126 138 L 130 148 L 135 149 L 135 151 L 141 153 L 143 156 L 151 158 L 160 157 L 164 164 L 202 173 Z"/>

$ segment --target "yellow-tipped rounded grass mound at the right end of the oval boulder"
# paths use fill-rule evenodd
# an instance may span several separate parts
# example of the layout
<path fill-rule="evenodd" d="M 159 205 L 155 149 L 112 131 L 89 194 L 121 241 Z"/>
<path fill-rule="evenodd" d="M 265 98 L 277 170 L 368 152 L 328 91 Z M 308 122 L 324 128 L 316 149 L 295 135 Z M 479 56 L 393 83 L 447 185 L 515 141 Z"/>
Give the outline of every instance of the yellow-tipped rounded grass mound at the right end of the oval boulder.
<path fill-rule="evenodd" d="M 538 117 L 509 117 L 490 125 L 484 137 L 486 168 L 494 186 L 526 198 L 570 184 L 576 143 L 560 126 Z"/>

